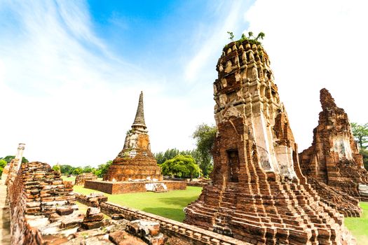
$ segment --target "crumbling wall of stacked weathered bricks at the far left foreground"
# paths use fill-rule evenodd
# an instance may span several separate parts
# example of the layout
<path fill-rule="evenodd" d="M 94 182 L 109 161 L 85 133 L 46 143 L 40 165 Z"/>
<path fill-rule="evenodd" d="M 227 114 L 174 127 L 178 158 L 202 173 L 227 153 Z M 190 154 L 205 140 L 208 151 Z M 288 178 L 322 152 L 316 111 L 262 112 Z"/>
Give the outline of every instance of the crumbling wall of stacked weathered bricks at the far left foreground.
<path fill-rule="evenodd" d="M 49 165 L 42 162 L 22 163 L 16 177 L 8 184 L 11 243 L 43 244 L 45 241 L 39 228 L 32 225 L 34 218 L 74 205 L 71 191 L 71 182 L 62 181 L 60 173 Z"/>

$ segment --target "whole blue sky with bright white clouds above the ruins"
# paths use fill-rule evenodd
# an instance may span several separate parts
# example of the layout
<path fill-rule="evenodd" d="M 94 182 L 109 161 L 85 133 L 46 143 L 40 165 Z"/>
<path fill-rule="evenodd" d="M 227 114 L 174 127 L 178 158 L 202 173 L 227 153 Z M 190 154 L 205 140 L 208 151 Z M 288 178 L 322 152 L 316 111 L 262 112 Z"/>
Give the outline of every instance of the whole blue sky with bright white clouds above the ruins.
<path fill-rule="evenodd" d="M 248 30 L 266 33 L 304 149 L 322 87 L 350 120 L 368 121 L 359 106 L 367 91 L 364 9 L 358 0 L 0 1 L 0 109 L 8 118 L 0 156 L 22 142 L 29 160 L 51 165 L 111 160 L 141 90 L 152 151 L 193 148 L 196 125 L 214 123 L 212 83 L 226 31 Z"/>

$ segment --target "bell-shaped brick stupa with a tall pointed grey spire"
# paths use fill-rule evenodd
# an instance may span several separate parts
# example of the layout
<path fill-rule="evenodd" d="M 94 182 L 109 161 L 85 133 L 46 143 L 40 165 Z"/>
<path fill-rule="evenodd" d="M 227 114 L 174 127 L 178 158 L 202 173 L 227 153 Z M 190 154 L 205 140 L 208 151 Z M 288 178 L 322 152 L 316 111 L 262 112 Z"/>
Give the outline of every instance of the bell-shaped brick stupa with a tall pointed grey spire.
<path fill-rule="evenodd" d="M 144 123 L 143 93 L 139 96 L 137 113 L 132 125 L 125 137 L 123 150 L 109 167 L 104 176 L 106 181 L 133 181 L 137 179 L 158 180 L 163 176 L 157 165 L 154 155 L 151 153 L 149 135 Z"/>

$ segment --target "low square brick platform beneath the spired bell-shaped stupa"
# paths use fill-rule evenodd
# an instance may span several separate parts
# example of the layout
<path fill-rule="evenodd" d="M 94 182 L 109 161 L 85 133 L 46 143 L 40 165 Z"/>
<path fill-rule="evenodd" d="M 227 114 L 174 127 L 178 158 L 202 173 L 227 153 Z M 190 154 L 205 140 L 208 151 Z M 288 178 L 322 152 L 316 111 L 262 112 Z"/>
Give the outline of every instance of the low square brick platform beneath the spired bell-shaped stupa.
<path fill-rule="evenodd" d="M 167 190 L 186 190 L 184 181 L 86 181 L 84 188 L 100 190 L 109 194 L 145 193 L 146 185 L 163 183 Z"/>

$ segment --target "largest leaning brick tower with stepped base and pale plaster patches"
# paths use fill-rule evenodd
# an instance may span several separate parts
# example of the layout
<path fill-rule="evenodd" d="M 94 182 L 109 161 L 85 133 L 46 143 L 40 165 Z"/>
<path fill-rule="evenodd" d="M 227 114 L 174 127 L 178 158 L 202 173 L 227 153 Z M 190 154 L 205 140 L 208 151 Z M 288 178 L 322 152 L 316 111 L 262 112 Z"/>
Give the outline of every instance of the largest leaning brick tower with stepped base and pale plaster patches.
<path fill-rule="evenodd" d="M 184 222 L 252 244 L 354 244 L 343 216 L 301 174 L 264 49 L 229 43 L 217 71 L 212 183 Z"/>

